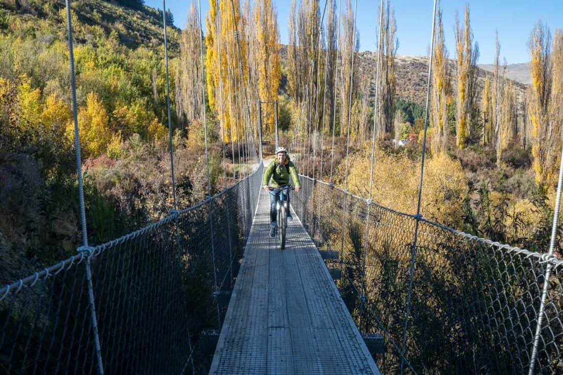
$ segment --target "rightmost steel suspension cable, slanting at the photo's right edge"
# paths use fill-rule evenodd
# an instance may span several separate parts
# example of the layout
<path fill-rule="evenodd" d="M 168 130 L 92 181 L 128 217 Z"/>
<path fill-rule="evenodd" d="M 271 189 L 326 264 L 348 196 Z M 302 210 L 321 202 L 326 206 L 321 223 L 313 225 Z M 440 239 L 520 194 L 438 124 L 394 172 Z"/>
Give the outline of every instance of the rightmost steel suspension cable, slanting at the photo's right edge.
<path fill-rule="evenodd" d="M 553 256 L 553 250 L 555 249 L 555 242 L 557 240 L 557 225 L 559 220 L 559 209 L 561 206 L 561 185 L 563 184 L 563 148 L 561 149 L 561 157 L 560 157 L 560 164 L 559 164 L 559 178 L 557 181 L 557 193 L 555 196 L 555 208 L 553 209 L 553 224 L 551 226 L 551 239 L 549 239 L 549 251 L 547 253 L 548 257 Z M 551 262 L 547 263 L 546 266 L 546 274 L 543 279 L 543 288 L 542 288 L 542 299 L 540 300 L 539 305 L 539 312 L 538 312 L 538 325 L 535 328 L 535 335 L 534 335 L 534 345 L 531 351 L 531 358 L 530 358 L 530 368 L 528 370 L 528 375 L 534 374 L 534 367 L 536 358 L 538 356 L 538 344 L 539 344 L 539 337 L 542 333 L 542 324 L 543 324 L 543 316 L 544 311 L 546 308 L 546 298 L 547 298 L 547 289 L 549 287 L 549 278 L 551 277 L 551 270 L 553 268 L 553 264 Z"/>

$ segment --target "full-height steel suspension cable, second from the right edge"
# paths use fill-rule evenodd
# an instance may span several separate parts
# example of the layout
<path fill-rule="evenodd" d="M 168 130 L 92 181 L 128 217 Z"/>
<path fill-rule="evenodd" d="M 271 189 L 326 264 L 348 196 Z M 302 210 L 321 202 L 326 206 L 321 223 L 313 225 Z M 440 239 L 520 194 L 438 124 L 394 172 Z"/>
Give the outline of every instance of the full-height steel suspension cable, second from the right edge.
<path fill-rule="evenodd" d="M 436 21 L 436 0 L 434 0 L 434 11 L 432 12 L 432 39 L 430 42 L 430 57 L 428 58 L 428 82 L 426 84 L 426 109 L 425 109 L 425 120 L 424 120 L 424 136 L 422 139 L 422 158 L 421 158 L 421 177 L 418 184 L 418 203 L 417 203 L 417 215 L 415 215 L 415 225 L 414 225 L 414 242 L 412 247 L 412 255 L 410 258 L 410 271 L 409 271 L 409 289 L 406 296 L 406 309 L 405 309 L 405 327 L 403 331 L 403 346 L 401 353 L 401 374 L 404 371 L 404 357 L 406 352 L 406 330 L 409 324 L 409 312 L 410 312 L 410 297 L 413 290 L 413 275 L 414 275 L 414 262 L 417 256 L 417 241 L 418 241 L 418 227 L 422 218 L 421 215 L 421 201 L 422 201 L 422 181 L 424 177 L 424 163 L 426 157 L 426 133 L 428 130 L 428 102 L 430 101 L 430 83 L 432 79 L 432 56 L 434 56 L 434 32 L 435 32 L 435 21 Z"/>

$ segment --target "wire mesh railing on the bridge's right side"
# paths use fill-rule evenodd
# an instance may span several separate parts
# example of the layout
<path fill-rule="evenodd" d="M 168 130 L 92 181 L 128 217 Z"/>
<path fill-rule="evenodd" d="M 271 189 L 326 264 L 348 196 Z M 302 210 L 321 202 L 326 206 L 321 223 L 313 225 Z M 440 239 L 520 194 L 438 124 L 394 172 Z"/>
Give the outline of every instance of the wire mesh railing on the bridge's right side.
<path fill-rule="evenodd" d="M 493 243 L 301 176 L 292 206 L 362 332 L 382 333 L 382 373 L 526 373 L 551 264 L 535 372 L 563 372 L 563 260 Z M 415 224 L 419 220 L 412 288 Z M 410 290 L 409 290 L 410 289 Z M 410 311 L 404 355 L 406 301 Z"/>

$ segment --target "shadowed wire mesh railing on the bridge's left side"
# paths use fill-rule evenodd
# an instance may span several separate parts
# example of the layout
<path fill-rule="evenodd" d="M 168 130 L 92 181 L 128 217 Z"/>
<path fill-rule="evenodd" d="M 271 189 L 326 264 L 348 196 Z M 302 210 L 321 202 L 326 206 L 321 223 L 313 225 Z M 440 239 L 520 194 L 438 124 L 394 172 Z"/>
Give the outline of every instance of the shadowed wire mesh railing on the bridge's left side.
<path fill-rule="evenodd" d="M 205 363 L 194 363 L 198 334 L 224 319 L 216 292 L 232 289 L 262 169 L 260 163 L 214 197 L 1 288 L 0 373 L 98 372 L 88 258 L 106 373 L 204 372 Z"/>

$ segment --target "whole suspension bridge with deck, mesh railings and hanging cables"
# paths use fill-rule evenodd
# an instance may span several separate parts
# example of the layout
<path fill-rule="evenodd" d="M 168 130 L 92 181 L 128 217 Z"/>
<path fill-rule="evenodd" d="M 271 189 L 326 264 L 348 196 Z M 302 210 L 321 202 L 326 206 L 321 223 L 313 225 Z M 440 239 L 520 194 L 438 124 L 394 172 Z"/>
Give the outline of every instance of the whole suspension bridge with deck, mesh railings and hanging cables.
<path fill-rule="evenodd" d="M 75 110 L 68 1 L 67 15 Z M 0 289 L 0 372 L 563 372 L 563 260 L 553 255 L 559 200 L 551 247 L 530 252 L 423 218 L 424 146 L 415 215 L 334 186 L 331 160 L 328 182 L 314 167 L 300 175 L 281 251 L 267 236 L 260 141 L 243 145 L 252 172 L 211 196 L 208 171 L 207 199 L 183 209 L 171 147 L 169 215 L 91 245 L 76 123 L 75 110 L 82 246 Z M 311 140 L 298 136 L 299 126 L 291 154 L 308 172 Z M 252 124 L 244 132 L 252 139 Z M 331 155 L 334 133 L 332 145 Z M 370 195 L 373 183 L 372 153 Z M 559 185 L 558 199 L 561 177 Z"/>

